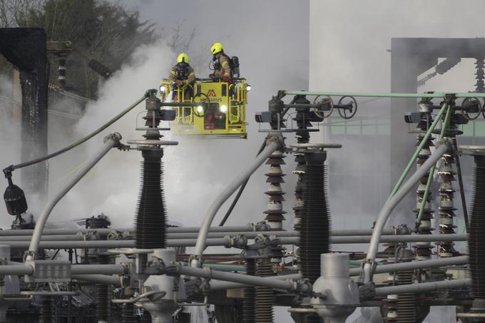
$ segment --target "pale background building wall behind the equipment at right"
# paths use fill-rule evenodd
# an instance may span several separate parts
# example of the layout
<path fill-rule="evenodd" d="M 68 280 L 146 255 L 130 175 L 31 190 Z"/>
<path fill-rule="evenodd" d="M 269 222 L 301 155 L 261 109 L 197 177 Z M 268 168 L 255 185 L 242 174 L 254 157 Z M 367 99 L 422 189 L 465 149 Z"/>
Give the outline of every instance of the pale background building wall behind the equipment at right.
<path fill-rule="evenodd" d="M 449 0 L 311 0 L 310 91 L 390 92 L 392 38 L 480 37 L 483 32 L 477 26 L 483 9 L 483 1 L 461 1 L 458 5 Z M 458 17 L 469 23 L 451 23 Z M 474 91 L 473 63 L 462 60 L 417 91 Z M 330 152 L 334 227 L 371 226 L 393 183 L 389 176 L 394 166 L 389 164 L 390 100 L 358 101 L 359 111 L 351 121 L 335 117 L 322 125 L 325 141 L 344 145 Z M 461 138 L 459 143 L 470 142 L 470 135 L 476 136 L 474 142 L 483 142 L 484 121 L 480 119 L 464 126 L 469 138 Z M 398 135 L 415 138 L 407 133 Z M 403 158 L 408 160 L 410 155 L 404 153 Z M 464 167 L 470 165 L 465 161 Z M 414 213 L 399 212 L 392 222 L 412 224 Z"/>

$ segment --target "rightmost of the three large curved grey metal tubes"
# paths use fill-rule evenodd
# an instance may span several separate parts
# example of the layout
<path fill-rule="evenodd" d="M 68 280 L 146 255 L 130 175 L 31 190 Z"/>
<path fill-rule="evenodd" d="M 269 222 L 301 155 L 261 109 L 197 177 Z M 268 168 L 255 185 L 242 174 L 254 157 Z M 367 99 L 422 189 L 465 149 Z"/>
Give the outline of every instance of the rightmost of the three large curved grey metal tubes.
<path fill-rule="evenodd" d="M 414 188 L 414 185 L 422 179 L 424 175 L 428 172 L 430 168 L 441 158 L 441 156 L 449 151 L 453 147 L 450 140 L 444 139 L 441 140 L 436 150 L 429 155 L 429 158 L 418 168 L 418 170 L 409 178 L 409 180 L 404 183 L 399 190 L 397 190 L 396 194 L 390 198 L 387 203 L 382 207 L 381 212 L 377 215 L 377 221 L 374 225 L 374 232 L 372 232 L 371 241 L 369 243 L 369 248 L 367 250 L 367 257 L 364 263 L 363 268 L 363 277 L 362 282 L 369 283 L 372 282 L 372 266 L 375 261 L 375 257 L 377 255 L 377 248 L 379 247 L 379 240 L 381 238 L 382 229 L 384 229 L 384 225 L 391 215 L 392 210 L 394 207 L 399 203 L 399 201 L 404 198 L 404 196 Z"/>

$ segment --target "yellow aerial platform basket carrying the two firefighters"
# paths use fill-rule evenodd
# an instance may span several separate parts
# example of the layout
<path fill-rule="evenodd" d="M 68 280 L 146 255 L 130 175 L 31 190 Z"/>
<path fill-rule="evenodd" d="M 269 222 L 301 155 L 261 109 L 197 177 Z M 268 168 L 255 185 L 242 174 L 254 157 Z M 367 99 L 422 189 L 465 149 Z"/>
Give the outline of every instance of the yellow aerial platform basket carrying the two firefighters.
<path fill-rule="evenodd" d="M 247 83 L 198 80 L 193 86 L 179 88 L 168 80 L 160 82 L 165 102 L 203 103 L 200 106 L 173 106 L 177 115 L 170 129 L 178 135 L 203 135 L 217 138 L 247 138 Z"/>

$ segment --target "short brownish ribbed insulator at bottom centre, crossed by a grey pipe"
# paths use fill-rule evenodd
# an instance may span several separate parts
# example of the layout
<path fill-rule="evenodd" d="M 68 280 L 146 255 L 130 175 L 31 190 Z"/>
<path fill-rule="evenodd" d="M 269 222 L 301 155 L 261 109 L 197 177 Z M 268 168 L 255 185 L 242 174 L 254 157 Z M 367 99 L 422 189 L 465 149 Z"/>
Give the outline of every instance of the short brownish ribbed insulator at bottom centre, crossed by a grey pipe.
<path fill-rule="evenodd" d="M 266 258 L 257 260 L 256 276 L 270 277 L 275 273 L 272 265 Z M 271 287 L 255 287 L 255 323 L 273 322 L 273 302 L 274 293 Z"/>

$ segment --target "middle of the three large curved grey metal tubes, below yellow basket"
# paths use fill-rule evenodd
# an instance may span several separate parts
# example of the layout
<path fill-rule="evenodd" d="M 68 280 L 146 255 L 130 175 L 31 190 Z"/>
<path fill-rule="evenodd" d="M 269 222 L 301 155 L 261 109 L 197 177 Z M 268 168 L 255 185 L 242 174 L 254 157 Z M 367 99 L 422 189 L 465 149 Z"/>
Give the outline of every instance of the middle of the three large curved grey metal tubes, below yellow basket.
<path fill-rule="evenodd" d="M 212 222 L 214 220 L 215 214 L 218 212 L 220 207 L 223 205 L 225 200 L 228 200 L 230 198 L 230 195 L 232 195 L 235 190 L 237 190 L 242 183 L 247 180 L 247 178 L 250 177 L 252 173 L 257 170 L 257 168 L 262 165 L 262 163 L 267 160 L 270 155 L 280 148 L 283 145 L 283 140 L 282 136 L 280 134 L 272 134 L 270 135 L 269 138 L 267 138 L 267 143 L 266 143 L 266 148 L 262 150 L 260 155 L 257 155 L 257 158 L 255 161 L 250 165 L 247 170 L 243 171 L 240 173 L 240 175 L 233 180 L 233 183 L 230 183 L 230 185 L 223 190 L 220 195 L 214 200 L 214 202 L 210 205 L 209 210 L 205 213 L 204 221 L 202 225 L 200 226 L 199 234 L 197 237 L 197 242 L 195 243 L 195 250 L 193 252 L 193 259 L 190 262 L 190 266 L 192 267 L 200 267 L 200 258 L 203 255 L 203 252 L 205 250 L 205 240 L 207 239 L 207 234 L 209 232 L 210 225 L 212 225 Z"/>

